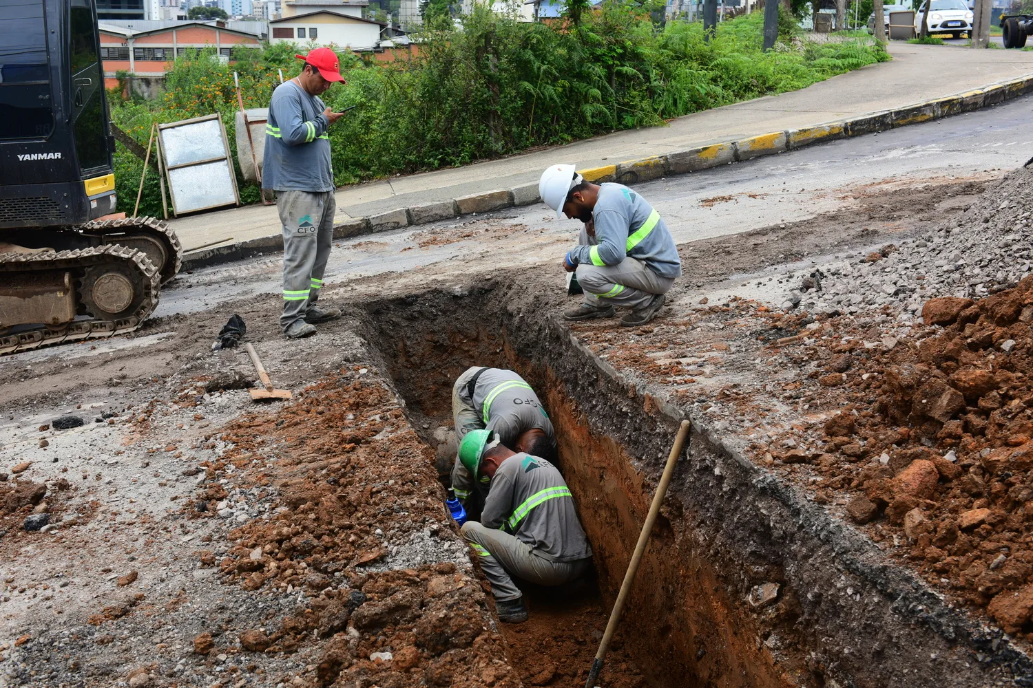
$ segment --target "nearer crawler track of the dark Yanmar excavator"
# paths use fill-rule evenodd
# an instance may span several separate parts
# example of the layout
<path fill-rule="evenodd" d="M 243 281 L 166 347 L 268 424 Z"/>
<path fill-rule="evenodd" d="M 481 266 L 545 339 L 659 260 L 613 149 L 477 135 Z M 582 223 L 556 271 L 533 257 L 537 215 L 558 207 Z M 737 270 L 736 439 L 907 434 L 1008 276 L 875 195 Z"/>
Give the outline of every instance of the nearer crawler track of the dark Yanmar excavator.
<path fill-rule="evenodd" d="M 175 234 L 170 234 L 170 236 L 175 240 Z M 176 241 L 175 245 L 178 247 L 179 241 Z M 92 299 L 82 298 L 81 290 L 84 280 L 89 280 L 91 274 L 96 275 L 102 272 L 102 268 L 105 267 L 112 268 L 117 280 L 131 285 L 133 291 L 131 305 L 127 308 L 129 313 L 120 312 L 119 317 L 114 319 L 90 316 L 89 319 L 76 319 L 60 325 L 30 326 L 26 329 L 20 329 L 18 332 L 2 333 L 0 330 L 0 356 L 65 341 L 109 337 L 114 334 L 132 332 L 157 307 L 158 292 L 161 288 L 161 273 L 148 255 L 138 249 L 105 244 L 57 253 L 0 254 L 0 277 L 9 276 L 12 273 L 28 275 L 41 270 L 74 272 L 76 275 L 76 296 L 79 296 L 76 301 L 81 304 L 81 309 L 86 309 L 85 304 L 93 303 Z M 176 267 L 179 268 L 178 260 Z M 95 276 L 94 281 L 96 282 Z"/>

